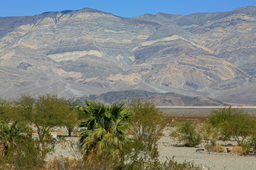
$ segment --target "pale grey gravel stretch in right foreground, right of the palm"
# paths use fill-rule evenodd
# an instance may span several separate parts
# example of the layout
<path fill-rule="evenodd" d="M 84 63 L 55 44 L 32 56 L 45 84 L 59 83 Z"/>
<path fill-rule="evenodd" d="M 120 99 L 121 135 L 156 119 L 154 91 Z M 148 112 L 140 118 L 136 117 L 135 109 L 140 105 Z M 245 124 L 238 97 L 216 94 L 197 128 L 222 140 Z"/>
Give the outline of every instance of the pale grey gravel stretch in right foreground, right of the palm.
<path fill-rule="evenodd" d="M 159 141 L 159 159 L 172 158 L 177 162 L 194 162 L 212 170 L 256 169 L 256 156 L 232 156 L 227 153 L 197 153 L 197 148 L 172 146 L 170 137 L 162 137 Z"/>

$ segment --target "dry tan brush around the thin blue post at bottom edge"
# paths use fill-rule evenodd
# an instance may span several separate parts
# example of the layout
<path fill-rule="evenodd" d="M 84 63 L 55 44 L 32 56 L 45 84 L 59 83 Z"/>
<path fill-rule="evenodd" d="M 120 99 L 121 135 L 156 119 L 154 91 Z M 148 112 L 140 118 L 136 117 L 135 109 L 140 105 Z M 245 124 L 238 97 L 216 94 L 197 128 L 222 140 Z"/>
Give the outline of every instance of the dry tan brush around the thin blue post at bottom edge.
<path fill-rule="evenodd" d="M 85 165 L 82 159 L 75 159 L 74 157 L 64 158 L 65 169 L 69 170 L 77 170 L 77 169 L 85 169 Z M 51 159 L 49 162 L 46 162 L 44 165 L 45 170 L 62 170 L 62 158 L 55 157 Z"/>

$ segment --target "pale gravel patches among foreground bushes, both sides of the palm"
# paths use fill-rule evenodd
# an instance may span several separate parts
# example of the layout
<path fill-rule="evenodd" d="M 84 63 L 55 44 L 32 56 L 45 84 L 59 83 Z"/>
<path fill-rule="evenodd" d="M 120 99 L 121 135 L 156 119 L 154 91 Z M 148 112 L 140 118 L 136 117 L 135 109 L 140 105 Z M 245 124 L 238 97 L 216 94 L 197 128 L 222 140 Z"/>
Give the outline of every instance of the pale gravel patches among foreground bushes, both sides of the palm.
<path fill-rule="evenodd" d="M 69 138 L 67 140 L 77 141 L 78 138 L 73 137 L 72 139 Z M 67 143 L 69 142 L 56 144 L 56 152 L 53 153 L 53 155 L 48 156 L 47 160 L 53 159 L 55 156 L 75 156 L 81 158 L 78 150 L 75 150 L 75 147 L 70 147 Z M 203 165 L 212 170 L 256 169 L 256 156 L 232 156 L 227 153 L 197 153 L 197 148 L 178 147 L 174 146 L 175 143 L 174 140 L 171 140 L 171 137 L 162 137 L 161 140 L 159 140 L 159 160 L 165 161 L 166 158 L 171 159 L 174 156 L 175 161 L 194 162 L 196 165 Z"/>

